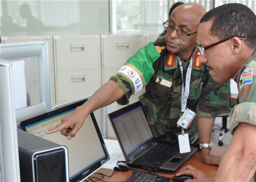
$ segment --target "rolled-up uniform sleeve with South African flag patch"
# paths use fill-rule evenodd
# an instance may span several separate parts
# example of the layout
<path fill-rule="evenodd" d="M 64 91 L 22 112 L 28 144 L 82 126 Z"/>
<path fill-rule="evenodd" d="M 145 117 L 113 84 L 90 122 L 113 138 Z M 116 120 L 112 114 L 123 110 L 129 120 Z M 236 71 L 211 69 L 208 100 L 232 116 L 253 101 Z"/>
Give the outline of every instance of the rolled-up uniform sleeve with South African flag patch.
<path fill-rule="evenodd" d="M 234 81 L 238 84 L 238 105 L 229 117 L 231 134 L 240 122 L 256 126 L 256 51 L 234 76 Z"/>

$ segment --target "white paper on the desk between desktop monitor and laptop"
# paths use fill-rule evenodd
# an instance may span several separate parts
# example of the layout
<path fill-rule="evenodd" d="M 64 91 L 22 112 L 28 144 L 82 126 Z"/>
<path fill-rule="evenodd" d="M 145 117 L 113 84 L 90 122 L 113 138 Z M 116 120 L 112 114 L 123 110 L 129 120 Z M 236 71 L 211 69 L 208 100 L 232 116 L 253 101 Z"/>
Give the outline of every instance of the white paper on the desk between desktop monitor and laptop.
<path fill-rule="evenodd" d="M 116 166 L 117 161 L 125 161 L 122 150 L 117 140 L 104 139 L 106 149 L 110 154 L 110 161 L 104 164 L 103 168 L 113 169 Z"/>

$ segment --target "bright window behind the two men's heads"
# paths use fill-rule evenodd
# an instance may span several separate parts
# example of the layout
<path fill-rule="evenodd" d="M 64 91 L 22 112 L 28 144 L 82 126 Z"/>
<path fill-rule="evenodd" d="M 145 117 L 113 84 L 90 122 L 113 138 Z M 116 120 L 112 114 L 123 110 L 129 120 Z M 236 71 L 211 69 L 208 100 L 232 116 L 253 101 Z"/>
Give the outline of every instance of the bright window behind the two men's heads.
<path fill-rule="evenodd" d="M 162 22 L 168 19 L 169 8 L 177 2 L 199 3 L 205 7 L 206 11 L 227 4 L 241 3 L 248 6 L 256 13 L 256 2 L 251 0 L 159 0 L 159 1 L 112 1 L 112 31 L 121 32 L 152 32 L 163 31 Z"/>

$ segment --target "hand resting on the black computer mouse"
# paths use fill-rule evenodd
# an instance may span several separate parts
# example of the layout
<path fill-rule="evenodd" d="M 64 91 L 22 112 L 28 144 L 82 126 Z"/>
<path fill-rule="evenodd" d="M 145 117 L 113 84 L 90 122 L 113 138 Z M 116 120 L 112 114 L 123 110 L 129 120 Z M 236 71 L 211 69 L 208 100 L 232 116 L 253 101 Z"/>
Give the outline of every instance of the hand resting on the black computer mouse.
<path fill-rule="evenodd" d="M 186 181 L 213 181 L 214 177 L 213 176 L 208 176 L 204 172 L 188 165 L 183 167 L 176 175 L 184 175 L 184 174 L 190 174 L 193 175 L 194 179 L 187 179 Z"/>

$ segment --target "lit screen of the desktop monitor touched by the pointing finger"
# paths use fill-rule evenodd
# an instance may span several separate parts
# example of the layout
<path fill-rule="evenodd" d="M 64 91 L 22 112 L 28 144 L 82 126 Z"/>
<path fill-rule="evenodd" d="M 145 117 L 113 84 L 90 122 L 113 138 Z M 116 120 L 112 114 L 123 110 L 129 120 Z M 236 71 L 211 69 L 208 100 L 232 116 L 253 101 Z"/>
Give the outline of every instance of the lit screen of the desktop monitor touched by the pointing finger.
<path fill-rule="evenodd" d="M 106 158 L 93 119 L 90 115 L 87 117 L 86 121 L 84 121 L 76 136 L 71 140 L 67 140 L 67 138 L 62 136 L 59 132 L 50 135 L 45 134 L 48 129 L 59 125 L 61 118 L 67 116 L 74 110 L 75 109 L 72 109 L 25 126 L 27 132 L 54 143 L 65 145 L 68 148 L 70 180 L 78 177 L 78 175 L 81 175 L 82 171 L 87 168 L 90 169 L 90 166 Z M 84 174 L 84 176 L 87 176 L 86 173 Z"/>

